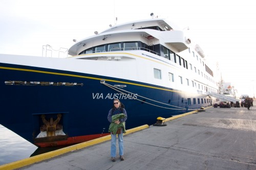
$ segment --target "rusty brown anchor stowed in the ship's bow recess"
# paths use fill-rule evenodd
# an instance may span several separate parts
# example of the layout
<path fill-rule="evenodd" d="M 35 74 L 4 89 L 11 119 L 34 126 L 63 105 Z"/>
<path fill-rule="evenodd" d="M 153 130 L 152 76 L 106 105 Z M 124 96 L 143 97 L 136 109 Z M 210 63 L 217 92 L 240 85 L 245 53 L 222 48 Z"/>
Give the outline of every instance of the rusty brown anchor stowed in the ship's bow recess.
<path fill-rule="evenodd" d="M 44 122 L 44 125 L 40 128 L 40 131 L 42 132 L 47 131 L 47 137 L 55 136 L 55 131 L 62 129 L 62 126 L 58 124 L 61 118 L 61 114 L 58 114 L 57 117 L 58 118 L 55 121 L 53 121 L 53 118 L 51 117 L 50 122 L 48 122 L 46 120 L 46 115 L 45 114 L 41 115 L 42 122 Z"/>

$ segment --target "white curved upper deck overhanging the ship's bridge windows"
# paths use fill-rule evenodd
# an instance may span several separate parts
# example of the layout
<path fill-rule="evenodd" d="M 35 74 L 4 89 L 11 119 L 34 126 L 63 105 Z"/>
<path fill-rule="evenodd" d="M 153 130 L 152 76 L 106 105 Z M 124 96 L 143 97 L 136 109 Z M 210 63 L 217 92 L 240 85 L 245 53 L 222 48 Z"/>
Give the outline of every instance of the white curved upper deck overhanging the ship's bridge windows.
<path fill-rule="evenodd" d="M 86 49 L 103 44 L 131 41 L 141 41 L 147 46 L 155 44 L 169 45 L 174 52 L 186 50 L 190 43 L 183 32 L 176 30 L 174 25 L 170 25 L 164 19 L 155 18 L 123 23 L 111 27 L 100 34 L 95 32 L 95 35 L 76 42 L 69 49 L 69 55 L 79 55 Z M 151 50 L 150 47 L 148 49 Z M 102 52 L 109 52 L 109 50 L 105 49 Z"/>

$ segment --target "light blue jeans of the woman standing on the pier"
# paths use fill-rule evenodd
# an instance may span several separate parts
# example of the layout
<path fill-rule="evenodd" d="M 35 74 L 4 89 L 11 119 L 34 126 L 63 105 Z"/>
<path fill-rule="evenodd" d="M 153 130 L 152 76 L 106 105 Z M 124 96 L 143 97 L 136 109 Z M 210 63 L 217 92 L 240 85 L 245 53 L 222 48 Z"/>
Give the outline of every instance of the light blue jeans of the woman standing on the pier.
<path fill-rule="evenodd" d="M 123 132 L 121 130 L 118 136 L 118 145 L 119 145 L 119 155 L 123 155 Z M 116 135 L 111 133 L 111 157 L 116 157 Z"/>

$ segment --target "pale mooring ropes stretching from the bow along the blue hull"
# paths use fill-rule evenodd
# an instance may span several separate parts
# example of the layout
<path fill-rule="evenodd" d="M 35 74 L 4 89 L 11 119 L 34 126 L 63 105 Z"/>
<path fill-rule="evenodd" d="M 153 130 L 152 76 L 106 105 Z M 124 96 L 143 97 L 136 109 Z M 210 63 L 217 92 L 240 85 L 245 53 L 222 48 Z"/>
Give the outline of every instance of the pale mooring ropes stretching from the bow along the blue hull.
<path fill-rule="evenodd" d="M 158 101 L 155 101 L 155 100 L 152 100 L 152 99 L 148 99 L 148 98 L 145 98 L 144 96 L 141 96 L 141 95 L 132 93 L 132 92 L 130 92 L 130 91 L 126 91 L 126 90 L 124 90 L 124 89 L 117 88 L 117 87 L 112 86 L 112 85 L 110 85 L 110 84 L 108 84 L 108 83 L 105 83 L 105 80 L 101 80 L 100 83 L 101 83 L 101 84 L 104 84 L 105 86 L 108 86 L 108 87 L 110 87 L 110 88 L 112 88 L 112 89 L 114 89 L 114 90 L 116 90 L 116 91 L 118 91 L 118 92 L 120 92 L 120 93 L 122 93 L 122 94 L 124 94 L 124 95 L 130 96 L 130 97 L 132 97 L 134 100 L 138 100 L 138 101 L 140 101 L 140 102 L 143 102 L 143 103 L 146 103 L 146 104 L 149 104 L 149 105 L 153 105 L 153 106 L 156 106 L 156 107 L 161 107 L 161 108 L 164 108 L 164 109 L 172 109 L 172 110 L 197 110 L 197 109 L 186 109 L 186 108 L 182 108 L 182 107 L 178 107 L 178 106 L 168 105 L 168 104 L 165 104 L 165 103 L 162 103 L 162 102 L 158 102 Z M 176 108 L 180 108 L 180 109 L 176 109 L 176 108 L 167 108 L 167 107 L 155 105 L 155 104 L 152 104 L 152 103 L 148 103 L 148 102 L 139 100 L 139 99 L 137 99 L 137 98 L 134 98 L 134 97 L 131 96 L 130 94 L 126 94 L 126 93 L 124 93 L 124 92 L 122 92 L 122 91 L 120 91 L 120 90 L 122 90 L 122 91 L 124 91 L 124 92 L 127 92 L 127 93 L 130 93 L 130 94 L 133 94 L 133 95 L 136 95 L 136 96 L 139 96 L 140 98 L 144 98 L 144 99 L 147 99 L 147 100 L 156 102 L 156 103 L 160 103 L 160 104 L 163 104 L 163 105 L 172 106 L 172 107 L 176 107 Z"/>

